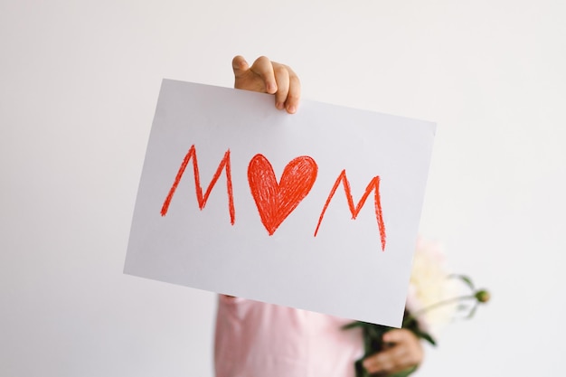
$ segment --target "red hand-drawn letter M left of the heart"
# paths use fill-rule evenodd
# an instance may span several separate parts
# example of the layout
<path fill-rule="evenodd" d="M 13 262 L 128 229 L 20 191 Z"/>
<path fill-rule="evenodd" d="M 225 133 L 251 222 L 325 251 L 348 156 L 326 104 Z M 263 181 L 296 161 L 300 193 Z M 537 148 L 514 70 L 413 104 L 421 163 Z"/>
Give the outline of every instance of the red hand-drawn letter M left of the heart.
<path fill-rule="evenodd" d="M 196 149 L 194 148 L 194 145 L 191 146 L 191 148 L 189 148 L 189 152 L 186 154 L 186 156 L 184 156 L 183 163 L 181 163 L 181 166 L 179 167 L 179 171 L 175 176 L 175 182 L 171 186 L 171 189 L 169 190 L 169 193 L 165 198 L 165 202 L 161 207 L 161 215 L 165 216 L 165 214 L 167 214 L 167 210 L 169 209 L 169 204 L 173 199 L 173 195 L 175 194 L 177 185 L 179 185 L 179 182 L 181 181 L 181 178 L 183 177 L 184 174 L 184 169 L 189 164 L 189 161 L 191 161 L 191 159 L 193 159 L 193 175 L 194 175 L 194 186 L 196 191 L 196 200 L 199 204 L 199 208 L 201 209 L 201 211 L 206 205 L 206 201 L 208 201 L 208 197 L 212 192 L 212 187 L 214 187 L 214 184 L 216 184 L 216 181 L 218 181 L 218 178 L 222 173 L 222 169 L 225 170 L 226 188 L 228 191 L 228 210 L 230 212 L 230 222 L 233 225 L 234 221 L 236 221 L 235 220 L 236 211 L 234 210 L 234 196 L 232 194 L 232 186 L 231 186 L 230 149 L 228 149 L 224 154 L 224 157 L 222 158 L 220 165 L 218 165 L 218 168 L 216 169 L 216 173 L 214 173 L 214 176 L 212 177 L 211 183 L 206 188 L 206 193 L 204 193 L 203 195 L 203 187 L 201 187 L 201 175 L 199 174 L 199 165 L 196 159 Z"/>

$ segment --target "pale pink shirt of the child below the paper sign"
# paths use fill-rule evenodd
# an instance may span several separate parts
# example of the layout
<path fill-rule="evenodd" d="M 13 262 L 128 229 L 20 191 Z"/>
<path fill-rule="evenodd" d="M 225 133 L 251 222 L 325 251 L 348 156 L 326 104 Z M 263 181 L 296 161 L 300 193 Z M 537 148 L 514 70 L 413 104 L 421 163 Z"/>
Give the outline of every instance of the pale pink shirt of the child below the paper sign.
<path fill-rule="evenodd" d="M 363 355 L 350 319 L 219 296 L 216 377 L 354 377 Z"/>

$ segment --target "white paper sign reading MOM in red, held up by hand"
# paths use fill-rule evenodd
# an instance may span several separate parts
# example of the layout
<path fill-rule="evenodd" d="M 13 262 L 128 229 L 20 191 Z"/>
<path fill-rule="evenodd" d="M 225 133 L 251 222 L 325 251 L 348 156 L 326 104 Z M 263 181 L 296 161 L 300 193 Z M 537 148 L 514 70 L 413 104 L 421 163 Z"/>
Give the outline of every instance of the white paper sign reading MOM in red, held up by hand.
<path fill-rule="evenodd" d="M 400 326 L 434 132 L 164 80 L 125 272 Z"/>

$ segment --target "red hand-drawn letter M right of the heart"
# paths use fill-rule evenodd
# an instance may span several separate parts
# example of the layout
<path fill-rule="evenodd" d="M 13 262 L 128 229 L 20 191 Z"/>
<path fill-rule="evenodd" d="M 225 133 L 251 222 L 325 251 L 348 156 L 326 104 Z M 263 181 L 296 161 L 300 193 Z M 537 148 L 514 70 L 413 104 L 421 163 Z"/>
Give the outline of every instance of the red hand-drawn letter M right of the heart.
<path fill-rule="evenodd" d="M 370 195 L 371 191 L 374 192 L 374 203 L 375 203 L 375 219 L 377 220 L 377 225 L 379 227 L 380 236 L 382 238 L 382 250 L 385 251 L 385 224 L 383 223 L 383 215 L 382 215 L 382 200 L 380 197 L 379 186 L 380 186 L 380 177 L 379 175 L 374 176 L 372 181 L 367 185 L 365 188 L 365 193 L 363 193 L 362 199 L 358 202 L 358 205 L 354 207 L 354 199 L 352 198 L 352 191 L 350 190 L 350 183 L 348 182 L 348 178 L 346 177 L 345 169 L 338 175 L 336 179 L 335 185 L 332 187 L 330 194 L 328 195 L 328 199 L 326 199 L 325 208 L 323 208 L 322 212 L 320 213 L 320 218 L 318 219 L 318 224 L 316 225 L 315 237 L 316 233 L 318 233 L 318 228 L 320 228 L 320 223 L 322 222 L 323 217 L 325 217 L 326 208 L 328 208 L 328 204 L 332 200 L 338 185 L 342 183 L 344 184 L 344 192 L 346 194 L 346 200 L 348 201 L 348 207 L 350 208 L 350 212 L 352 213 L 352 219 L 358 216 L 358 213 L 363 208 L 363 204 L 365 200 Z"/>

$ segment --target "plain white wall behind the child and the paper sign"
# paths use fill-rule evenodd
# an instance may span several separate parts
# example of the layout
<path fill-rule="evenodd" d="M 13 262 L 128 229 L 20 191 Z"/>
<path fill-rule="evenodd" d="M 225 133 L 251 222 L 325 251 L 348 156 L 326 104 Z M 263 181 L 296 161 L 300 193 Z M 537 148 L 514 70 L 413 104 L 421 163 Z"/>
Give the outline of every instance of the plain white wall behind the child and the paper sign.
<path fill-rule="evenodd" d="M 566 3 L 0 1 L 0 375 L 212 375 L 212 293 L 122 274 L 162 78 L 231 58 L 438 122 L 421 232 L 491 288 L 420 376 L 559 375 Z"/>

